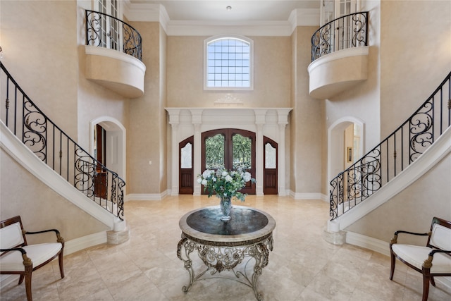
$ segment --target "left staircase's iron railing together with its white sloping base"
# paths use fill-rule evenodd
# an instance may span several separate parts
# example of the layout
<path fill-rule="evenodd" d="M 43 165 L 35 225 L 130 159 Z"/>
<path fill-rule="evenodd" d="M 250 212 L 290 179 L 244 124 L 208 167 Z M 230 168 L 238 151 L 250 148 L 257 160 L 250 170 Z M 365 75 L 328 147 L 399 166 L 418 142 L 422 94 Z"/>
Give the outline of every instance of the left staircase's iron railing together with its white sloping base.
<path fill-rule="evenodd" d="M 1 148 L 69 202 L 111 230 L 124 231 L 124 180 L 58 128 L 1 62 L 0 85 Z"/>

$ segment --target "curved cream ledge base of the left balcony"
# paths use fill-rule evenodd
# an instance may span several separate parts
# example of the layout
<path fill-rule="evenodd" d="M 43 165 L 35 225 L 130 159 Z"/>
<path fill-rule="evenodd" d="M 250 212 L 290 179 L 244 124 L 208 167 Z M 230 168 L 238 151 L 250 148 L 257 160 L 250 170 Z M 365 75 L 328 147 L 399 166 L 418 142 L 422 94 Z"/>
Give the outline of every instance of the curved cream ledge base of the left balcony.
<path fill-rule="evenodd" d="M 122 52 L 96 46 L 85 46 L 88 80 L 124 97 L 144 94 L 146 66 L 142 61 Z"/>

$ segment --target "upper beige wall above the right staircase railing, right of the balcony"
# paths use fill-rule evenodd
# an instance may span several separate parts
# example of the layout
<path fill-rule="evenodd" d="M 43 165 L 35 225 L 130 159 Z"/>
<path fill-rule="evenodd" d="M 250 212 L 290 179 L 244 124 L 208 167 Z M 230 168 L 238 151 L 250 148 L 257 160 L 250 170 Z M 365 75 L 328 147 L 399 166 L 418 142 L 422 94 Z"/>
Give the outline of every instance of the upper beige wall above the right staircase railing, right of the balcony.
<path fill-rule="evenodd" d="M 419 108 L 451 70 L 451 1 L 381 2 L 381 134 Z"/>

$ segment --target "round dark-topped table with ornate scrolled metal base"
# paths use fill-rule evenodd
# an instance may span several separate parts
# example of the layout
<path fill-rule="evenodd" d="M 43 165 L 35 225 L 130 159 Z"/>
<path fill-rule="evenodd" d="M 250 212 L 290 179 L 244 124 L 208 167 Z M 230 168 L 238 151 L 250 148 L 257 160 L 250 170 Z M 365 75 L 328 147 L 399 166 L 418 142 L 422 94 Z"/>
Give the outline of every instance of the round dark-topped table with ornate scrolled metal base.
<path fill-rule="evenodd" d="M 228 278 L 218 276 L 227 270 L 233 272 L 234 280 L 251 287 L 257 300 L 263 300 L 257 292 L 257 278 L 268 265 L 276 221 L 264 211 L 235 205 L 230 210 L 230 221 L 221 221 L 221 216 L 221 208 L 213 206 L 190 211 L 180 219 L 182 239 L 178 242 L 177 256 L 185 262 L 190 274 L 190 283 L 182 290 L 187 293 L 194 281 L 208 278 L 208 275 Z M 190 259 L 194 251 L 205 264 L 198 275 L 194 274 Z M 243 262 L 245 267 L 249 262 L 252 264 L 252 259 L 252 275 L 248 275 L 246 268 L 244 271 L 237 269 Z"/>

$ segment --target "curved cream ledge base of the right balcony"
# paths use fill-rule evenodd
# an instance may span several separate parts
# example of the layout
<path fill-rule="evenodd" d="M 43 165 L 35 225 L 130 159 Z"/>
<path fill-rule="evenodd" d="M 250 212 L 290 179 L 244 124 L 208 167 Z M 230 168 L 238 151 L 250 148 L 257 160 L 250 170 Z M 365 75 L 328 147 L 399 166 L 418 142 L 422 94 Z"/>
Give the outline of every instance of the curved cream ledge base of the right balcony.
<path fill-rule="evenodd" d="M 309 92 L 316 99 L 331 99 L 368 78 L 369 47 L 343 49 L 309 65 Z"/>

